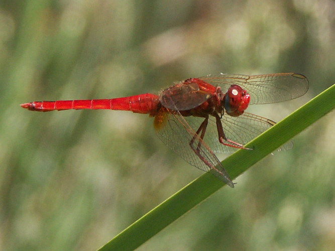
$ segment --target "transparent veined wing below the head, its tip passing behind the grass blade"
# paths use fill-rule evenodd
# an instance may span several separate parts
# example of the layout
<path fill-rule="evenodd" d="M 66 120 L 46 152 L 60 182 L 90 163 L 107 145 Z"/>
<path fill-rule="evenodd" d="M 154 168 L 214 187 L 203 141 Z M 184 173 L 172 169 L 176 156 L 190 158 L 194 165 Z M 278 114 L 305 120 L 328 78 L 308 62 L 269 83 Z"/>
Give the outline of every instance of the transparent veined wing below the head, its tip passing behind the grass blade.
<path fill-rule="evenodd" d="M 224 114 L 221 118 L 221 122 L 226 138 L 242 145 L 246 145 L 276 124 L 276 122 L 271 119 L 248 112 L 244 112 L 238 117 Z M 238 150 L 219 143 L 214 118 L 211 118 L 208 122 L 205 140 L 215 153 L 232 153 Z M 290 141 L 281 146 L 278 151 L 289 150 L 292 147 L 293 144 Z"/>

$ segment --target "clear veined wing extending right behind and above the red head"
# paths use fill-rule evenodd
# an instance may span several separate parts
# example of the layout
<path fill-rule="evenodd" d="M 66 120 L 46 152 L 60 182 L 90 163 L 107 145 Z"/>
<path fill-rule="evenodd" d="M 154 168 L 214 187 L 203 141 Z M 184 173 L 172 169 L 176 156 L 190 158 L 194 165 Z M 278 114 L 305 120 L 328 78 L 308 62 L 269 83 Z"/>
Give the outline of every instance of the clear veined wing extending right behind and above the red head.
<path fill-rule="evenodd" d="M 250 104 L 276 103 L 302 96 L 308 90 L 308 80 L 296 73 L 266 75 L 213 74 L 199 78 L 214 86 L 228 90 L 232 84 L 240 85 L 250 94 Z"/>

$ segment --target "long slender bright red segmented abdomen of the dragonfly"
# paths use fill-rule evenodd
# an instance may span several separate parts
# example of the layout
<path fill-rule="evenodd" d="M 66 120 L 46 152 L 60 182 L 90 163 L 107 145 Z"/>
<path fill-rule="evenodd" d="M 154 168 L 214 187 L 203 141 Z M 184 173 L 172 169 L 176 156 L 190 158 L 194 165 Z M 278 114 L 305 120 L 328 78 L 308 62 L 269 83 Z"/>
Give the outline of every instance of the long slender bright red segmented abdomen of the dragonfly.
<path fill-rule="evenodd" d="M 137 113 L 150 113 L 154 115 L 158 110 L 158 104 L 159 97 L 157 95 L 146 93 L 112 99 L 35 101 L 21 104 L 21 106 L 35 111 L 111 109 L 130 110 Z"/>

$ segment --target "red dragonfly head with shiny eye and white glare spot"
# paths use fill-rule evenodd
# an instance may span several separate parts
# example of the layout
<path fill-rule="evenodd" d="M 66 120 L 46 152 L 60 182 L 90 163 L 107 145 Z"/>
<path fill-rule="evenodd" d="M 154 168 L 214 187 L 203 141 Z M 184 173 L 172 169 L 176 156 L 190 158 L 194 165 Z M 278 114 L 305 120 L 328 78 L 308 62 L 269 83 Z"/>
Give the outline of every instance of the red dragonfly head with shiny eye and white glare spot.
<path fill-rule="evenodd" d="M 241 115 L 247 109 L 249 102 L 250 94 L 237 84 L 231 85 L 224 97 L 225 109 L 234 117 Z"/>

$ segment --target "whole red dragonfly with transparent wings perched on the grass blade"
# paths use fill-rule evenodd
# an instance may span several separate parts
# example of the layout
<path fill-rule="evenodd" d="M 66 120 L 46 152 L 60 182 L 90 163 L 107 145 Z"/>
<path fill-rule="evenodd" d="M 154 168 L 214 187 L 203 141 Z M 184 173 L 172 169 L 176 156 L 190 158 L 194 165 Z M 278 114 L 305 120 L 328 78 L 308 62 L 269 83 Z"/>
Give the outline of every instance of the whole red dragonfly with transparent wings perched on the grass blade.
<path fill-rule="evenodd" d="M 154 128 L 164 144 L 192 166 L 234 187 L 213 152 L 251 150 L 244 145 L 275 124 L 270 119 L 244 112 L 248 105 L 290 100 L 307 90 L 307 78 L 296 73 L 256 76 L 220 73 L 186 79 L 159 95 L 35 101 L 21 106 L 35 111 L 111 109 L 148 113 L 154 117 Z"/>

